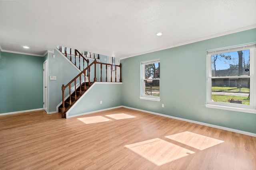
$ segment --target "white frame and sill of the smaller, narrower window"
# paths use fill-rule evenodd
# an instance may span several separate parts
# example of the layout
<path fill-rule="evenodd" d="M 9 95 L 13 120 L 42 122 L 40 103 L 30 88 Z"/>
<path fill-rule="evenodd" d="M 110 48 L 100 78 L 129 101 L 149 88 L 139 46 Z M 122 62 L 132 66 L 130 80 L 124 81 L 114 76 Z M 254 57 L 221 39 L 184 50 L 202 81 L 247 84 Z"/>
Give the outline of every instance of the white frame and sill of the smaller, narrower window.
<path fill-rule="evenodd" d="M 147 95 L 143 95 L 143 92 L 145 91 L 144 88 L 144 80 L 160 80 L 160 78 L 154 78 L 154 79 L 145 79 L 145 74 L 144 71 L 145 70 L 145 64 L 154 64 L 154 63 L 160 63 L 160 59 L 155 59 L 155 60 L 148 60 L 148 61 L 142 61 L 141 62 L 141 84 L 140 84 L 140 99 L 142 100 L 151 100 L 151 101 L 157 101 L 160 102 L 160 96 L 147 96 Z M 159 85 L 160 88 L 160 85 Z"/>

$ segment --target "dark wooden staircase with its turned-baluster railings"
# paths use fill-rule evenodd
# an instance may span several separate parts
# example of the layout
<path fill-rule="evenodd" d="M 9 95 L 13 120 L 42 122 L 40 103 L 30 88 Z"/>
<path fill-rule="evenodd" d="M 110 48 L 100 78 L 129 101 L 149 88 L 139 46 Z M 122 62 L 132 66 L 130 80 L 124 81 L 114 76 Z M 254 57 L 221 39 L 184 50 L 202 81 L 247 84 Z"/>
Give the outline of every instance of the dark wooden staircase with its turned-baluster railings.
<path fill-rule="evenodd" d="M 64 48 L 64 53 L 62 52 L 62 48 Z M 102 82 L 102 71 L 106 72 L 105 78 L 103 80 L 106 82 L 117 82 L 117 74 L 116 74 L 116 68 L 120 68 L 120 79 L 119 82 L 122 82 L 121 78 L 121 64 L 120 65 L 113 65 L 108 63 L 100 63 L 96 61 L 95 54 L 94 61 L 89 64 L 89 60 L 86 59 L 78 50 L 73 49 L 74 53 L 72 54 L 72 50 L 70 49 L 70 54 L 67 53 L 66 47 L 58 47 L 57 48 L 60 52 L 62 52 L 70 61 L 77 66 L 81 72 L 75 76 L 68 84 L 62 85 L 62 104 L 58 107 L 58 111 L 62 113 L 62 118 L 66 118 L 66 112 L 78 101 L 79 98 L 81 98 L 85 92 L 94 84 L 94 82 L 97 82 L 96 75 L 99 75 L 100 81 Z M 74 55 L 74 60 L 72 61 L 72 55 Z M 77 57 L 76 57 L 77 56 Z M 91 53 L 90 53 L 90 58 Z M 76 59 L 78 58 L 78 59 Z M 99 59 L 99 55 L 97 57 Z M 79 64 L 76 63 L 76 60 L 78 60 Z M 87 67 L 84 68 L 85 63 L 87 63 Z M 97 72 L 96 67 L 97 65 L 100 68 L 100 72 Z M 93 67 L 92 67 L 93 66 Z M 110 70 L 108 69 L 110 68 Z M 92 68 L 92 69 L 91 69 Z M 114 70 L 112 68 L 115 68 Z M 112 78 L 112 72 L 113 78 Z M 111 75 L 110 78 L 108 78 L 108 73 Z M 94 74 L 93 82 L 90 82 L 90 75 Z M 82 80 L 84 79 L 84 80 Z M 78 82 L 78 83 L 77 83 Z M 66 90 L 66 93 L 65 93 Z M 68 93 L 67 93 L 68 92 Z M 66 98 L 65 98 L 66 96 Z"/>

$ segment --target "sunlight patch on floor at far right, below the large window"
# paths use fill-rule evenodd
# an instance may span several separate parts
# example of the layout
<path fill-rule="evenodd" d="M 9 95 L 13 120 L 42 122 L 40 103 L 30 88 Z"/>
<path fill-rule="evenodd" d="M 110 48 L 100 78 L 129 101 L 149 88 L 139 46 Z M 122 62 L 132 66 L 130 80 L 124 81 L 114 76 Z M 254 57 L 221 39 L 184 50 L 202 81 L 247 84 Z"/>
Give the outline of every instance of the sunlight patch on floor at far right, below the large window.
<path fill-rule="evenodd" d="M 169 135 L 169 136 L 166 136 L 166 138 L 172 139 L 176 142 L 188 145 L 190 147 L 193 147 L 199 150 L 204 150 L 224 142 L 218 139 L 214 139 L 211 137 L 199 135 L 197 133 L 192 133 L 188 131 L 177 133 L 174 135 Z"/>

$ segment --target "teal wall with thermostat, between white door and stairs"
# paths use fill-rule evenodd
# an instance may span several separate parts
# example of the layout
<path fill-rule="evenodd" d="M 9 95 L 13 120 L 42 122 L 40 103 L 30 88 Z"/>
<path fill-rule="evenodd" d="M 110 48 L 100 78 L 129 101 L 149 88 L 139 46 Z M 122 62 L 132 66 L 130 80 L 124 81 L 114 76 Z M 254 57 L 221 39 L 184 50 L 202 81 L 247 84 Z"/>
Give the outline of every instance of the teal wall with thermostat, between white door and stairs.
<path fill-rule="evenodd" d="M 55 58 L 52 55 L 55 55 Z M 54 53 L 48 53 L 48 112 L 57 111 L 56 106 L 62 102 L 62 84 L 68 84 L 79 73 L 73 64 L 69 63 L 56 49 Z M 50 80 L 50 76 L 56 76 L 56 80 Z M 68 93 L 67 88 L 65 96 Z"/>

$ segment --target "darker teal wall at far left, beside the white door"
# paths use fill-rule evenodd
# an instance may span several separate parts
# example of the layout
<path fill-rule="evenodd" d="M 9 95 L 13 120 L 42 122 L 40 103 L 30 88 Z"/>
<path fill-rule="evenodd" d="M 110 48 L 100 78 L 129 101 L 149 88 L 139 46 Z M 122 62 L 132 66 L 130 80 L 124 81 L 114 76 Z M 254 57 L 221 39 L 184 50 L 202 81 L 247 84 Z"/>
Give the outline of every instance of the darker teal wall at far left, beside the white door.
<path fill-rule="evenodd" d="M 1 52 L 0 113 L 43 107 L 43 57 Z"/>

